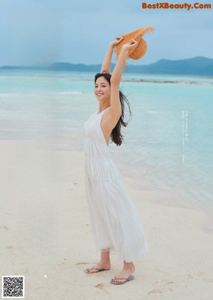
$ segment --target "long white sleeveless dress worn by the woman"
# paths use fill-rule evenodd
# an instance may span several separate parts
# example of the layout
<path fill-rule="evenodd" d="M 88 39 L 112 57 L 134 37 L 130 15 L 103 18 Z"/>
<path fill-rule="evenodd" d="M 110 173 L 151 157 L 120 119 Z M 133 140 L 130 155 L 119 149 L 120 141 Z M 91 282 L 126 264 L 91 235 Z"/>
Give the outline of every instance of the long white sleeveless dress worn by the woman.
<path fill-rule="evenodd" d="M 102 132 L 104 111 L 92 113 L 84 123 L 84 184 L 89 219 L 97 250 L 110 250 L 121 260 L 132 262 L 149 247 L 141 218 Z"/>

